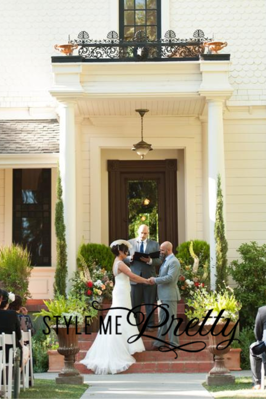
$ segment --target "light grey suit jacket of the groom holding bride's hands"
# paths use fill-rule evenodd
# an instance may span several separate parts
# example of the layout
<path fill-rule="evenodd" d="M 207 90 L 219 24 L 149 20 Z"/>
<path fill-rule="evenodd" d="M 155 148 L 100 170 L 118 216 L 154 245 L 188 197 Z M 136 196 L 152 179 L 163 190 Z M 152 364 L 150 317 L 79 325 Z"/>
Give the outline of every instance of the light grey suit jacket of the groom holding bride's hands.
<path fill-rule="evenodd" d="M 180 275 L 180 263 L 174 254 L 169 255 L 160 267 L 159 277 L 155 282 L 158 284 L 158 299 L 161 301 L 179 301 L 181 299 L 177 286 Z"/>

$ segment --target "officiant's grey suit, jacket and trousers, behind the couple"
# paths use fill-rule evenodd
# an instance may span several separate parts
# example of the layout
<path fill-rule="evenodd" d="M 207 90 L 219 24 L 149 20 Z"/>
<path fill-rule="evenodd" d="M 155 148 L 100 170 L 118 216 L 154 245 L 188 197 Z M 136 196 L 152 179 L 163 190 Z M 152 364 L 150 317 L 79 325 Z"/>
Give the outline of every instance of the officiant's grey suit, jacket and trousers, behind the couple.
<path fill-rule="evenodd" d="M 141 276 L 143 278 L 150 278 L 156 276 L 156 266 L 160 266 L 162 263 L 161 258 L 152 259 L 152 264 L 148 264 L 145 262 L 141 262 L 138 260 L 133 260 L 130 262 L 130 258 L 134 255 L 135 252 L 140 252 L 140 244 L 141 241 L 139 238 L 134 238 L 129 240 L 132 248 L 129 250 L 130 256 L 128 256 L 124 262 L 130 266 L 130 269 L 133 273 Z M 147 245 L 145 249 L 145 253 L 152 253 L 160 251 L 160 246 L 157 241 L 147 239 Z M 155 285 L 146 285 L 146 284 L 137 284 L 133 281 L 130 282 L 131 284 L 131 302 L 132 308 L 139 306 L 141 304 L 153 304 L 156 301 L 156 286 Z M 146 315 L 149 315 L 153 310 L 153 305 L 146 305 Z M 138 308 L 136 309 L 138 311 Z M 139 324 L 139 314 L 136 314 L 136 321 Z M 154 325 L 154 315 L 152 314 L 151 318 L 149 319 L 148 327 Z"/>

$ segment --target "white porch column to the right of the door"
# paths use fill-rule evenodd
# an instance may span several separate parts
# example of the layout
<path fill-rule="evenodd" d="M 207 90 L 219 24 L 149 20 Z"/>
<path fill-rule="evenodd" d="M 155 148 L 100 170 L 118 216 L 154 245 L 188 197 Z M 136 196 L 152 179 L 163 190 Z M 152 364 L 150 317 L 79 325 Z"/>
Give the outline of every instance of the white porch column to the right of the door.
<path fill-rule="evenodd" d="M 215 253 L 215 213 L 217 197 L 217 177 L 221 175 L 222 191 L 225 203 L 225 159 L 224 159 L 224 123 L 223 99 L 208 99 L 208 193 L 209 193 L 209 239 L 211 255 L 211 289 L 216 282 Z M 224 208 L 225 218 L 225 208 Z"/>

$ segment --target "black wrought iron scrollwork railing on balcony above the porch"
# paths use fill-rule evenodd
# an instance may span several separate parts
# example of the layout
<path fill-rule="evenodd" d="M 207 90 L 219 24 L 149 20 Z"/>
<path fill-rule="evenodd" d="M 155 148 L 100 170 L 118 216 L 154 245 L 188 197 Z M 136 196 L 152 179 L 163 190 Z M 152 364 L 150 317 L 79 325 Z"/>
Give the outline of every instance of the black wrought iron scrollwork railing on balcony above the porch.
<path fill-rule="evenodd" d="M 130 41 L 119 39 L 114 30 L 107 34 L 106 39 L 93 40 L 83 30 L 70 43 L 79 46 L 78 54 L 86 62 L 182 61 L 199 59 L 205 51 L 204 42 L 211 40 L 201 29 L 195 30 L 189 39 L 179 39 L 173 30 L 168 30 L 164 38 L 158 40 L 149 40 L 140 30 Z"/>

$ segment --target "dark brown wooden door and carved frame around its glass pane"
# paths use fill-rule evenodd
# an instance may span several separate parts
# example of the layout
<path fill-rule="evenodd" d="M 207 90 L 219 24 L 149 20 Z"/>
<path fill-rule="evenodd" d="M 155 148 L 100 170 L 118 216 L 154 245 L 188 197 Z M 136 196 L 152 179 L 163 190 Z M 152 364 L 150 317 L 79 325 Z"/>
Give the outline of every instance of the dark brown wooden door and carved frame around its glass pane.
<path fill-rule="evenodd" d="M 134 238 L 129 212 L 129 185 L 139 182 L 145 189 L 156 187 L 158 210 L 157 237 L 160 243 L 178 245 L 177 224 L 177 160 L 108 161 L 109 241 Z M 155 195 L 155 193 L 152 193 Z M 145 216 L 143 216 L 145 217 Z M 146 224 L 145 221 L 143 221 Z M 151 229 L 150 229 L 151 230 Z"/>

